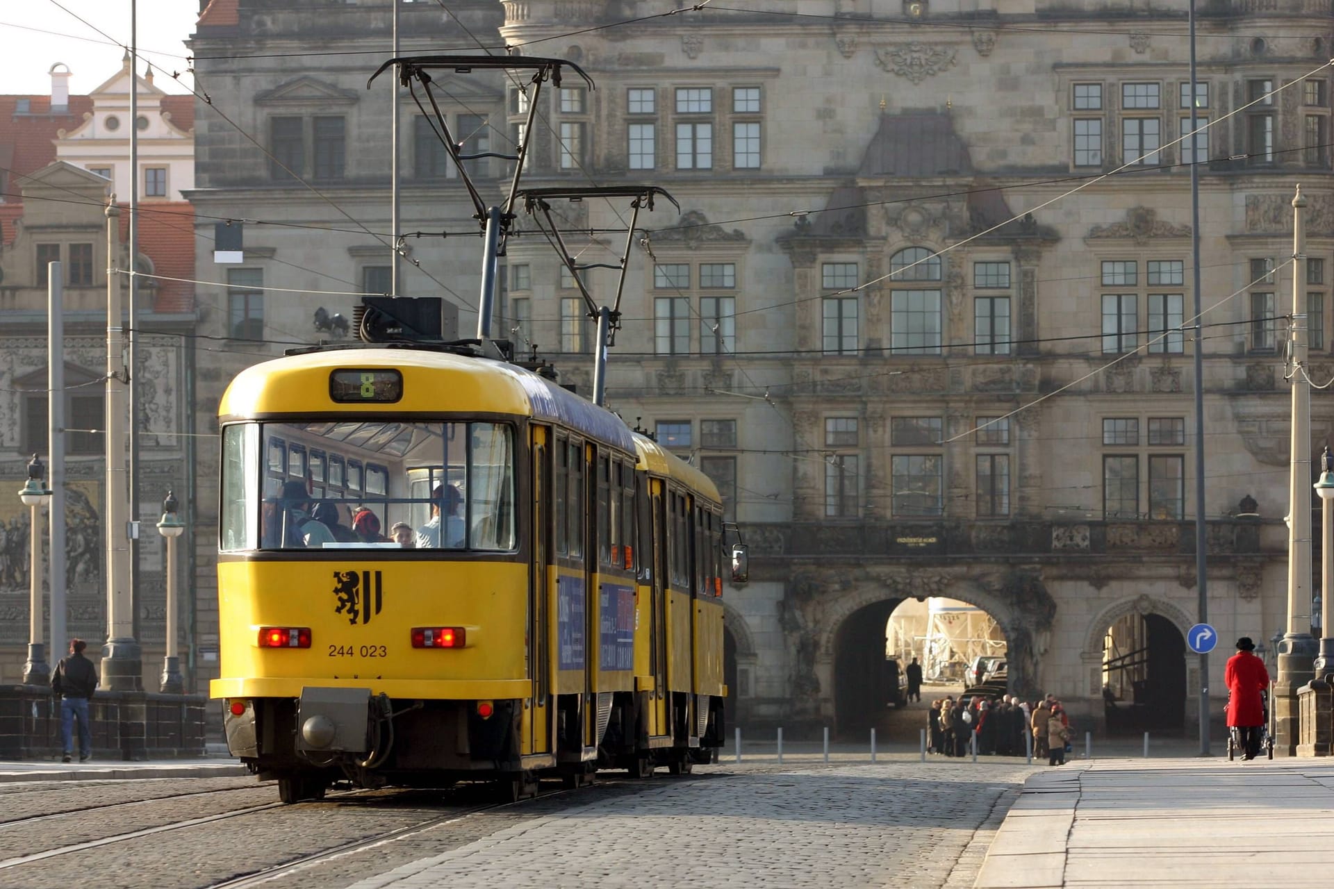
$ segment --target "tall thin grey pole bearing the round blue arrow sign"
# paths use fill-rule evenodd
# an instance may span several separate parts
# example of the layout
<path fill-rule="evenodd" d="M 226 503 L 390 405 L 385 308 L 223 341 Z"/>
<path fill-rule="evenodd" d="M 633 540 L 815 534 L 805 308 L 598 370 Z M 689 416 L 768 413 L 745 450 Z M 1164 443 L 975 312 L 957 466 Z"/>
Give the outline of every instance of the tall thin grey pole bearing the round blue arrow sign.
<path fill-rule="evenodd" d="M 1190 248 L 1195 295 L 1195 592 L 1199 622 L 1209 622 L 1207 528 L 1205 526 L 1205 337 L 1199 292 L 1199 80 L 1195 76 L 1195 0 L 1190 0 Z M 1199 656 L 1199 754 L 1209 756 L 1209 654 Z"/>

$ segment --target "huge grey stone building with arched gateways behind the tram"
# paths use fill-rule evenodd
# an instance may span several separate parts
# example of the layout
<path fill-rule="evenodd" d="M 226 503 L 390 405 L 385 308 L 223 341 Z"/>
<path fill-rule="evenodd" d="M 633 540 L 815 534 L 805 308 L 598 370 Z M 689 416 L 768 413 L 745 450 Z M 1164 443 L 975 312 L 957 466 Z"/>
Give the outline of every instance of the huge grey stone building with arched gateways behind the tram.
<path fill-rule="evenodd" d="M 480 41 L 595 80 L 543 91 L 528 187 L 651 183 L 682 204 L 679 219 L 664 204 L 640 216 L 608 403 L 712 474 L 751 545 L 751 582 L 726 596 L 734 721 L 866 721 L 884 700 L 863 677 L 879 674 L 890 612 L 948 596 L 999 621 L 1014 688 L 1101 718 L 1105 670 L 1134 670 L 1126 705 L 1186 724 L 1205 678 L 1182 636 L 1198 613 L 1197 510 L 1221 636 L 1283 629 L 1294 275 L 1309 373 L 1334 377 L 1330 1 L 1207 5 L 1194 96 L 1183 0 L 815 0 L 626 23 L 674 5 L 404 1 L 399 15 L 404 55 Z M 197 109 L 189 197 L 211 217 L 291 224 L 247 227 L 241 267 L 200 263 L 233 285 L 225 311 L 203 313 L 236 352 L 208 356 L 211 384 L 253 360 L 243 351 L 280 348 L 253 340 L 320 336 L 316 308 L 355 303 L 327 292 L 386 291 L 391 87 L 366 80 L 391 8 L 201 12 L 200 84 L 236 127 Z M 439 85 L 470 148 L 528 136 L 520 80 Z M 1209 124 L 1195 144 L 1181 141 L 1193 100 Z M 476 231 L 472 209 L 407 91 L 399 103 L 412 260 L 399 292 L 447 297 L 468 331 L 480 245 L 454 235 Z M 470 163 L 499 196 L 506 163 Z M 1294 263 L 1298 181 L 1309 245 Z M 615 255 L 603 232 L 628 207 L 563 212 L 592 233 L 571 235 L 580 261 Z M 502 328 L 587 392 L 574 283 L 539 237 L 514 239 L 506 267 Z M 590 283 L 610 299 L 608 275 Z M 1314 401 L 1319 445 L 1334 412 Z M 203 564 L 203 526 L 199 541 Z M 1222 658 L 1210 672 L 1218 697 Z"/>

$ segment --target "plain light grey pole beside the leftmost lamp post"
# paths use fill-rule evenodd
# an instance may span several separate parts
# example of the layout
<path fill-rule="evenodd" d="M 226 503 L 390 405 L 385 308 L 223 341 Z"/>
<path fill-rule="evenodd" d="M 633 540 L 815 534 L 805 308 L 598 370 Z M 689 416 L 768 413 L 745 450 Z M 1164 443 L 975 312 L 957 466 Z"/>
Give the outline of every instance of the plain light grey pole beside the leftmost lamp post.
<path fill-rule="evenodd" d="M 51 443 L 47 453 L 51 454 L 51 654 L 65 650 L 69 640 L 65 638 L 65 617 L 68 605 L 65 602 L 65 400 L 60 393 L 65 391 L 65 315 L 64 315 L 64 276 L 59 269 L 59 263 L 51 264 L 48 273 L 49 291 L 47 293 L 47 329 L 49 331 L 51 345 L 47 357 L 47 425 L 49 427 Z"/>

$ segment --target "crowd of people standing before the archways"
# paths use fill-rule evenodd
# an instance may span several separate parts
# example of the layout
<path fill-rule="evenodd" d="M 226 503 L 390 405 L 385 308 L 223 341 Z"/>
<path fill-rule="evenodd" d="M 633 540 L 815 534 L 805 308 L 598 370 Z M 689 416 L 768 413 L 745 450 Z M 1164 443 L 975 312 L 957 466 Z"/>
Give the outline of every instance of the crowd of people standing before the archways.
<path fill-rule="evenodd" d="M 982 756 L 1026 756 L 1031 738 L 1033 756 L 1045 756 L 1051 765 L 1065 764 L 1073 737 L 1070 717 L 1054 694 L 1031 704 L 1011 694 L 938 698 L 927 710 L 927 729 L 931 753 L 968 756 L 975 749 Z"/>

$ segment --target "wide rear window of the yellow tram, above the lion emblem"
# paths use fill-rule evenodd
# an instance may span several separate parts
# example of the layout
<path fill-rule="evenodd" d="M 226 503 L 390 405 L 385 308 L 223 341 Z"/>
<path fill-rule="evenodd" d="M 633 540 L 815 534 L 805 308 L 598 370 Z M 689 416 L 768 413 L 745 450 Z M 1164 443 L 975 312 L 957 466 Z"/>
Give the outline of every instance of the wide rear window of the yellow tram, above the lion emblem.
<path fill-rule="evenodd" d="M 220 546 L 512 550 L 514 458 L 499 423 L 228 425 Z"/>

